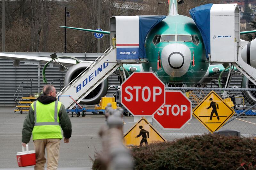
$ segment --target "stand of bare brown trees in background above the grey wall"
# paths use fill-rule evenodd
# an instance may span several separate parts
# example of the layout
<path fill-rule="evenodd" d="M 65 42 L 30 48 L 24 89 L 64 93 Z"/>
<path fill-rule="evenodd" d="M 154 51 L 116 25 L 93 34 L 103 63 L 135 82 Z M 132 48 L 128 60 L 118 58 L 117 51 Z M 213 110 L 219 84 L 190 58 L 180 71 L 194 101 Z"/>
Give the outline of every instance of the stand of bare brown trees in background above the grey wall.
<path fill-rule="evenodd" d="M 6 0 L 6 51 L 64 51 L 64 29 L 59 26 L 64 26 L 65 6 L 71 15 L 66 18 L 67 26 L 96 29 L 99 2 L 100 27 L 105 31 L 109 31 L 111 16 L 168 15 L 169 8 L 167 0 Z M 178 6 L 179 14 L 190 17 L 188 11 L 191 8 L 206 3 L 219 1 L 185 0 L 185 4 Z M 105 35 L 100 41 L 100 52 L 104 52 L 108 47 L 109 36 Z M 67 29 L 67 52 L 96 53 L 97 39 L 93 33 Z"/>

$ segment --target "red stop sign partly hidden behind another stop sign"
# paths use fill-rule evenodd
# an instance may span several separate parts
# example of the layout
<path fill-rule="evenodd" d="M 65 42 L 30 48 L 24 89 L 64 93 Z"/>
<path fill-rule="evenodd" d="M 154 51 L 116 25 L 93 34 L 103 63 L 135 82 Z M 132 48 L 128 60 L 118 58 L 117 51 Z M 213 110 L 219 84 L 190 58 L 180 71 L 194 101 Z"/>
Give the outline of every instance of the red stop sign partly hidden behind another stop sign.
<path fill-rule="evenodd" d="M 181 129 L 191 118 L 191 101 L 181 91 L 165 91 L 165 104 L 153 115 L 164 129 Z"/>

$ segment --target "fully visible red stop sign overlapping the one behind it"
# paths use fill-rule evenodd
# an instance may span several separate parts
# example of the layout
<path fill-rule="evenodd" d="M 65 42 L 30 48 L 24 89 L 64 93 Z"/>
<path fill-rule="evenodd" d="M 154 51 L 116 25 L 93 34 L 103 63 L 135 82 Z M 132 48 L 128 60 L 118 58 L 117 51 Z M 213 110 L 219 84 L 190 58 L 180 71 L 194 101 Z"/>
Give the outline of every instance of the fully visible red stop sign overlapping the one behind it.
<path fill-rule="evenodd" d="M 136 116 L 153 115 L 165 101 L 165 85 L 153 72 L 134 72 L 121 85 L 121 104 Z"/>

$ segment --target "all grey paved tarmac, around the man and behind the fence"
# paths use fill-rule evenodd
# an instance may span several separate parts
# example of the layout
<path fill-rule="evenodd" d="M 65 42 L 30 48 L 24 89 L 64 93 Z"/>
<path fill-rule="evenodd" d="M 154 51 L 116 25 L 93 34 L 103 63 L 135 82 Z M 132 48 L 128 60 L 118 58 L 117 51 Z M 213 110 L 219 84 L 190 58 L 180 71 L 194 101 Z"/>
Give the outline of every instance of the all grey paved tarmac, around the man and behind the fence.
<path fill-rule="evenodd" d="M 18 167 L 16 152 L 21 152 L 21 130 L 27 113 L 13 114 L 14 107 L 0 107 L 0 170 L 28 169 L 33 167 Z M 104 115 L 87 114 L 85 117 L 71 117 L 72 137 L 69 144 L 61 140 L 60 144 L 60 170 L 91 169 L 95 151 L 101 151 L 101 139 L 98 131 L 105 124 Z M 127 132 L 135 123 L 133 117 L 124 117 L 124 132 Z M 153 127 L 157 129 L 165 139 L 173 140 L 185 136 L 201 135 L 209 131 L 194 117 L 180 130 L 164 130 L 153 121 Z M 242 116 L 228 123 L 221 129 L 236 129 L 242 136 L 255 136 L 256 116 Z M 33 142 L 29 142 L 29 149 L 34 150 Z"/>

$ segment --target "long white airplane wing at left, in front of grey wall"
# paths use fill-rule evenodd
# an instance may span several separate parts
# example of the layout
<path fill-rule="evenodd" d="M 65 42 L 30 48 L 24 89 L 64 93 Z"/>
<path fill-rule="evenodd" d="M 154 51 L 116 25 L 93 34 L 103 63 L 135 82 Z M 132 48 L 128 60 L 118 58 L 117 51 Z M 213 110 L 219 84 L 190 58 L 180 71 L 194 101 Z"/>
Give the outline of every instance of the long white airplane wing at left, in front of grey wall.
<path fill-rule="evenodd" d="M 51 57 L 39 57 L 39 56 L 17 55 L 17 54 L 6 54 L 6 53 L 0 53 L 0 58 L 9 59 L 9 60 L 21 60 L 21 61 L 27 61 L 27 62 L 38 61 L 41 63 L 47 63 L 48 61 L 52 60 Z M 65 66 L 72 66 L 76 64 L 76 60 L 71 60 L 71 59 L 59 58 L 58 61 Z M 58 61 L 54 60 L 52 62 L 57 64 Z M 85 61 L 81 61 L 81 62 L 85 62 Z"/>

